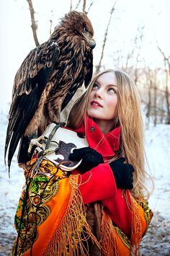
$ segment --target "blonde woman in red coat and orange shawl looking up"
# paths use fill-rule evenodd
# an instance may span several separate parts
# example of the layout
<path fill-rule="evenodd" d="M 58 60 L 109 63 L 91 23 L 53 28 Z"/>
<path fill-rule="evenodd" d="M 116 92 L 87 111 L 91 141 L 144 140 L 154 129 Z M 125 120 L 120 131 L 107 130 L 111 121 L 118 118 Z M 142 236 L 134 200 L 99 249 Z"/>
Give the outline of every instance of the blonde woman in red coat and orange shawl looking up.
<path fill-rule="evenodd" d="M 94 76 L 64 129 L 85 136 L 89 147 L 70 154 L 81 164 L 69 176 L 37 156 L 27 163 L 13 254 L 137 255 L 153 213 L 133 80 L 113 70 Z"/>

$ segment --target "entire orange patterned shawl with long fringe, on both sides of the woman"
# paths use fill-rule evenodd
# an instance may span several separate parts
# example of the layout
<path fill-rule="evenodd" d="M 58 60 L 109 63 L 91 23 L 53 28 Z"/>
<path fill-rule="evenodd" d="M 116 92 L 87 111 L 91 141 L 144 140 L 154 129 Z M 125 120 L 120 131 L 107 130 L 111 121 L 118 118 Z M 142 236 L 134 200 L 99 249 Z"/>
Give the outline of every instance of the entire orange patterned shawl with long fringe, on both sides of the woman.
<path fill-rule="evenodd" d="M 88 214 L 79 194 L 79 175 L 68 177 L 48 160 L 42 160 L 35 173 L 35 165 L 32 159 L 24 170 L 26 183 L 15 216 L 18 237 L 12 255 L 138 255 L 138 244 L 152 217 L 148 203 L 138 204 L 131 198 L 133 231 L 127 237 L 112 224 L 102 203 L 99 207 L 94 203 L 95 211 L 89 208 Z"/>

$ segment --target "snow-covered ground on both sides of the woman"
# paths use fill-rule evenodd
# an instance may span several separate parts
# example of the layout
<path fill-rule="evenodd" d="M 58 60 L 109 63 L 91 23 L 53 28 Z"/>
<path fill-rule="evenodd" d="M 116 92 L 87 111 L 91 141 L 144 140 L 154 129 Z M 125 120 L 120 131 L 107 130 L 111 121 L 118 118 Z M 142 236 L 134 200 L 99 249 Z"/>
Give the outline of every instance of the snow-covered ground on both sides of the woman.
<path fill-rule="evenodd" d="M 0 255 L 9 255 L 16 232 L 14 213 L 24 182 L 22 169 L 12 161 L 11 178 L 4 166 L 6 115 L 0 113 Z M 141 244 L 141 255 L 170 255 L 170 125 L 157 125 L 146 131 L 146 151 L 155 190 L 149 201 L 154 216 Z"/>

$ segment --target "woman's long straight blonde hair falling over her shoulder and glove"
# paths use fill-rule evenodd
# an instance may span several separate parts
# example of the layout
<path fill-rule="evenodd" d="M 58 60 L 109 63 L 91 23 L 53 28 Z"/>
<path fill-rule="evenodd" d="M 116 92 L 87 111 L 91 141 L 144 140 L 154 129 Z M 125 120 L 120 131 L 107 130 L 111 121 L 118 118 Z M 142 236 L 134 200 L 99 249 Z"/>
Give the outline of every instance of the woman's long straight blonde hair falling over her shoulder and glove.
<path fill-rule="evenodd" d="M 132 164 L 135 169 L 135 172 L 133 172 L 133 190 L 131 192 L 137 200 L 143 200 L 143 198 L 148 200 L 150 194 L 144 184 L 150 176 L 145 170 L 143 119 L 140 110 L 140 97 L 133 79 L 128 74 L 123 71 L 107 69 L 94 76 L 89 88 L 73 105 L 68 116 L 67 126 L 75 129 L 81 124 L 86 115 L 91 88 L 97 78 L 107 72 L 115 73 L 117 81 L 117 125 L 120 125 L 121 131 L 120 151 L 122 156 L 125 156 L 127 162 Z"/>

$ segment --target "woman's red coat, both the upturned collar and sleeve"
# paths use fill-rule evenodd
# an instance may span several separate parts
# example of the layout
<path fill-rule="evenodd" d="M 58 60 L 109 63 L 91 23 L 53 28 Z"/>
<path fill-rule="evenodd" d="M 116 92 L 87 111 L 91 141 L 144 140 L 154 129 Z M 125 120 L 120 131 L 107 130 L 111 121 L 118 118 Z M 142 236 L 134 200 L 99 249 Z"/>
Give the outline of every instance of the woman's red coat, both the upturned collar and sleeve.
<path fill-rule="evenodd" d="M 115 128 L 107 134 L 103 134 L 91 118 L 86 118 L 86 131 L 84 124 L 76 130 L 81 135 L 86 134 L 89 146 L 102 154 L 104 161 L 115 156 L 120 147 L 120 128 Z M 112 169 L 106 162 L 91 169 L 79 177 L 79 190 L 84 204 L 102 201 L 105 210 L 112 221 L 125 232 L 131 234 L 132 214 L 128 208 L 127 198 L 122 195 L 122 190 L 117 189 Z M 129 191 L 126 195 L 130 203 Z"/>

